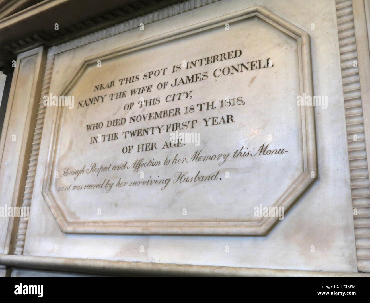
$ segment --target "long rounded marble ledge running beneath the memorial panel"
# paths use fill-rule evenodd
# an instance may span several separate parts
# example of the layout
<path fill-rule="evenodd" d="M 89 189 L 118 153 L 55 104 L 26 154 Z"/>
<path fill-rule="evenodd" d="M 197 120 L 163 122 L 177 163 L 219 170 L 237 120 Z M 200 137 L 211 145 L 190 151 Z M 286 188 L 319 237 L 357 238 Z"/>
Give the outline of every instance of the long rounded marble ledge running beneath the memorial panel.
<path fill-rule="evenodd" d="M 89 273 L 94 275 L 126 277 L 370 277 L 369 273 L 314 272 L 308 270 L 128 262 L 2 254 L 0 254 L 0 265 L 27 269 L 41 269 L 60 272 Z"/>

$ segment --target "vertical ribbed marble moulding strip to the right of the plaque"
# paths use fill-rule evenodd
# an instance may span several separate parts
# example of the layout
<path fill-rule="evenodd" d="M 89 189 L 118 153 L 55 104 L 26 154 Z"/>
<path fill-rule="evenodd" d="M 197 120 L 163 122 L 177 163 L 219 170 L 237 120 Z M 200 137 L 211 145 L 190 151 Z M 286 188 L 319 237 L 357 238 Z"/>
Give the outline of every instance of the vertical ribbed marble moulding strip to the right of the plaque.
<path fill-rule="evenodd" d="M 352 0 L 336 0 L 357 269 L 370 272 L 370 188 Z M 357 212 L 357 215 L 356 215 Z"/>

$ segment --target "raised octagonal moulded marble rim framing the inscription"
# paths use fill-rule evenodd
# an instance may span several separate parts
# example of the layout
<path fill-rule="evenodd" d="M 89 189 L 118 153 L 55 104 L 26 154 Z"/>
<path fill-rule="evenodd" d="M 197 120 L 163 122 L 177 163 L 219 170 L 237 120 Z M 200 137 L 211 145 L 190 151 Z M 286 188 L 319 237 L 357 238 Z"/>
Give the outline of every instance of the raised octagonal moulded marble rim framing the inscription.
<path fill-rule="evenodd" d="M 59 95 L 65 95 L 65 93 L 73 86 L 75 80 L 78 79 L 84 70 L 90 64 L 95 64 L 97 58 L 99 60 L 107 60 L 108 58 L 116 57 L 118 55 L 135 51 L 144 47 L 149 47 L 158 43 L 165 43 L 175 38 L 180 38 L 188 36 L 190 34 L 198 33 L 201 31 L 208 30 L 220 26 L 221 24 L 232 23 L 234 21 L 242 20 L 244 18 L 258 16 L 261 19 L 269 20 L 269 24 L 276 27 L 280 31 L 289 34 L 291 37 L 295 38 L 298 43 L 300 43 L 300 72 L 299 77 L 302 80 L 303 88 L 300 88 L 300 93 L 306 95 L 313 95 L 313 84 L 312 84 L 312 65 L 311 65 L 311 49 L 310 49 L 310 36 L 308 33 L 300 29 L 299 27 L 293 25 L 289 21 L 277 16 L 271 11 L 265 9 L 260 5 L 252 6 L 247 9 L 239 10 L 230 14 L 226 14 L 220 17 L 212 18 L 210 20 L 203 21 L 201 23 L 196 23 L 191 26 L 186 26 L 179 28 L 174 31 L 169 31 L 158 36 L 147 38 L 145 40 L 140 40 L 131 44 L 127 44 L 122 47 L 114 48 L 112 50 L 105 51 L 103 53 L 95 54 L 90 57 L 86 57 L 83 62 L 78 66 L 71 80 L 64 85 L 64 87 L 59 92 Z M 282 30 L 283 28 L 283 30 Z M 317 155 L 316 155 L 316 135 L 315 135 L 315 124 L 314 124 L 314 108 L 313 107 L 303 107 L 302 110 L 305 113 L 305 126 L 306 128 L 302 131 L 305 132 L 306 142 L 304 148 L 304 158 L 306 160 L 307 166 L 304 169 L 303 174 L 293 182 L 292 186 L 287 189 L 286 198 L 279 204 L 279 206 L 285 206 L 285 209 L 289 209 L 291 205 L 303 192 L 309 188 L 309 186 L 317 179 Z M 55 220 L 57 221 L 61 230 L 65 233 L 100 233 L 100 234 L 152 234 L 152 235 L 265 235 L 269 232 L 275 223 L 277 223 L 277 217 L 263 218 L 258 225 L 254 226 L 225 226 L 221 224 L 209 225 L 209 226 L 166 226 L 163 222 L 160 226 L 148 226 L 148 225 L 138 225 L 138 226 L 117 226 L 114 223 L 103 223 L 97 222 L 91 225 L 73 225 L 68 223 L 63 217 L 60 208 L 54 201 L 54 197 L 49 191 L 49 185 L 51 181 L 51 169 L 53 166 L 53 156 L 55 151 L 55 138 L 58 129 L 58 119 L 59 119 L 60 108 L 56 108 L 54 111 L 52 134 L 50 139 L 48 159 L 46 170 L 44 174 L 44 182 L 42 195 L 47 202 L 51 212 L 53 213 Z M 313 177 L 312 177 L 313 174 Z"/>

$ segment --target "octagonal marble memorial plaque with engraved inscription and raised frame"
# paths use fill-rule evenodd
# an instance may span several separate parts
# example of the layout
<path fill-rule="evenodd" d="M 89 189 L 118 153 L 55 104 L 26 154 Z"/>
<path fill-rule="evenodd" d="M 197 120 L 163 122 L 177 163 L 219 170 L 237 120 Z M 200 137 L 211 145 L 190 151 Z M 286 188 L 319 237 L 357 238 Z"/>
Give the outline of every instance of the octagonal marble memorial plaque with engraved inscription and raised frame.
<path fill-rule="evenodd" d="M 317 178 L 309 39 L 255 7 L 87 56 L 47 109 L 61 230 L 268 232 Z"/>

